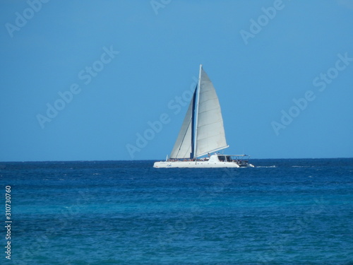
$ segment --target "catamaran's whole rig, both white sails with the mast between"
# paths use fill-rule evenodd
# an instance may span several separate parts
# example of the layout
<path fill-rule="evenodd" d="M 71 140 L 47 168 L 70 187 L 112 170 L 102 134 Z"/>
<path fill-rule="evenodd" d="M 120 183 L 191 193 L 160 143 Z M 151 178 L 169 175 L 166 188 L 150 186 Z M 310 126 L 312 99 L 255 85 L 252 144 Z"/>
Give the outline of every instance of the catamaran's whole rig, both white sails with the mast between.
<path fill-rule="evenodd" d="M 201 65 L 198 87 L 193 93 L 170 158 L 197 158 L 227 147 L 220 102 L 213 83 Z"/>

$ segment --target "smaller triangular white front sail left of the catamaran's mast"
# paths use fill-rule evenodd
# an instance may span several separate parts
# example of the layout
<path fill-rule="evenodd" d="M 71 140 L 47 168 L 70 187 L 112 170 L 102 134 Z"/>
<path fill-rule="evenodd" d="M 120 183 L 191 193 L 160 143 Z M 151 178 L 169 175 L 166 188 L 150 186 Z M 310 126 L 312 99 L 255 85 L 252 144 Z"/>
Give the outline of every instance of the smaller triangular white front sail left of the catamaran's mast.
<path fill-rule="evenodd" d="M 195 97 L 195 95 L 194 95 Z M 184 122 L 181 125 L 177 141 L 174 144 L 172 153 L 170 153 L 170 158 L 190 158 L 190 153 L 192 151 L 192 133 L 193 133 L 193 99 L 191 99 L 189 109 L 186 112 Z"/>

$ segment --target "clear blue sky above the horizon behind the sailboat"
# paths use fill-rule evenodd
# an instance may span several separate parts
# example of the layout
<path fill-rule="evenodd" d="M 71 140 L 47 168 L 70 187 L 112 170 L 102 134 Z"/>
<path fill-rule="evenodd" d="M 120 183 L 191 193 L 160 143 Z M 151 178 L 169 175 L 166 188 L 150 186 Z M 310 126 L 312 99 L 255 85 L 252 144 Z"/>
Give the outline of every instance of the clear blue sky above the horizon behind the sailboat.
<path fill-rule="evenodd" d="M 165 158 L 199 64 L 225 153 L 353 157 L 352 0 L 4 0 L 0 15 L 0 161 Z"/>

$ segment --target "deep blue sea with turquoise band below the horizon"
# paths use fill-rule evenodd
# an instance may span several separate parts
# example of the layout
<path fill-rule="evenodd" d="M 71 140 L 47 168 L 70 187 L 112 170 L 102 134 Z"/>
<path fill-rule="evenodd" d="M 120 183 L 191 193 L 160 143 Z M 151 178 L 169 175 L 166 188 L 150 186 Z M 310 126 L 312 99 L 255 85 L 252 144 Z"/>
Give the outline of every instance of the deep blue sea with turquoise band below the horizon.
<path fill-rule="evenodd" d="M 353 264 L 353 159 L 0 163 L 0 264 Z"/>

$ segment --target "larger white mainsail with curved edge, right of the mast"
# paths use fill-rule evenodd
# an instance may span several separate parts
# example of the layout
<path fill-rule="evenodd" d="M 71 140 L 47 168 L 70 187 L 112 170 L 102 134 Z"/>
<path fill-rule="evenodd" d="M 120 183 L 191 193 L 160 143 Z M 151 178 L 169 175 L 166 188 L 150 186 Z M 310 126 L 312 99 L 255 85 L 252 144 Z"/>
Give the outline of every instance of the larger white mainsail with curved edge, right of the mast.
<path fill-rule="evenodd" d="M 208 78 L 207 73 L 200 69 L 197 128 L 196 128 L 196 154 L 195 156 L 206 155 L 227 148 L 225 139 L 225 128 L 223 126 L 220 102 Z"/>

